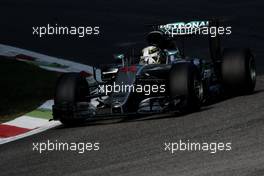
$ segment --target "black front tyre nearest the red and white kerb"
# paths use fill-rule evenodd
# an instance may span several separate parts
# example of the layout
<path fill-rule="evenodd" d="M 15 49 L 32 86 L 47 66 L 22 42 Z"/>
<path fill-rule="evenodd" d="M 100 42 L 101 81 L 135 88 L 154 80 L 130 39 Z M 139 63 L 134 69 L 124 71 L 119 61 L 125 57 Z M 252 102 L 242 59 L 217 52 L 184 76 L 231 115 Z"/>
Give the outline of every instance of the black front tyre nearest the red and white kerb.
<path fill-rule="evenodd" d="M 72 126 L 84 119 L 78 117 L 80 104 L 89 106 L 89 85 L 79 73 L 65 73 L 57 81 L 53 106 L 54 119 L 64 125 Z M 86 109 L 86 108 L 83 108 Z"/>

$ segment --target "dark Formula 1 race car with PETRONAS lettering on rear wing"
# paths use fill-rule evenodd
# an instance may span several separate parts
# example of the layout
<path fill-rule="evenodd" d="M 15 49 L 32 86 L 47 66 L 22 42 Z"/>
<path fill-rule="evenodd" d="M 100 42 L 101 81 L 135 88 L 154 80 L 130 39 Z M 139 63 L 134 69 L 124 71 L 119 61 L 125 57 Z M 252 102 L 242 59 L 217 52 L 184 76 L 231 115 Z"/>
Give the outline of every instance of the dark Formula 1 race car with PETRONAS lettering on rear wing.
<path fill-rule="evenodd" d="M 203 25 L 198 28 L 219 26 L 218 20 L 199 22 Z M 170 35 L 166 31 L 174 31 L 175 24 L 155 26 L 147 35 L 148 46 L 142 50 L 138 64 L 123 61 L 110 69 L 112 81 L 98 81 L 94 74 L 96 83 L 92 85 L 82 74 L 63 74 L 56 85 L 54 120 L 75 125 L 103 116 L 189 113 L 212 97 L 254 91 L 256 68 L 250 49 L 222 50 L 220 36 L 216 35 L 209 36 L 210 61 L 187 57 L 175 41 L 195 37 L 197 28 L 188 34 Z"/>

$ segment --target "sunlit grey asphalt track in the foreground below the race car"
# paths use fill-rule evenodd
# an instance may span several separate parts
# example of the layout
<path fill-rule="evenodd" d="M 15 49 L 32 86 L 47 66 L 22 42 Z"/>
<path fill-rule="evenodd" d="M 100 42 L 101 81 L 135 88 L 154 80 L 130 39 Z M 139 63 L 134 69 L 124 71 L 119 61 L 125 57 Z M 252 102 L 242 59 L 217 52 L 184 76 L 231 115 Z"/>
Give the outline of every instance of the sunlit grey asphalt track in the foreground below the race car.
<path fill-rule="evenodd" d="M 264 175 L 264 77 L 256 92 L 185 116 L 58 127 L 0 146 L 4 175 Z M 33 143 L 100 142 L 99 151 L 33 151 Z M 231 151 L 165 151 L 164 142 L 231 142 Z"/>

